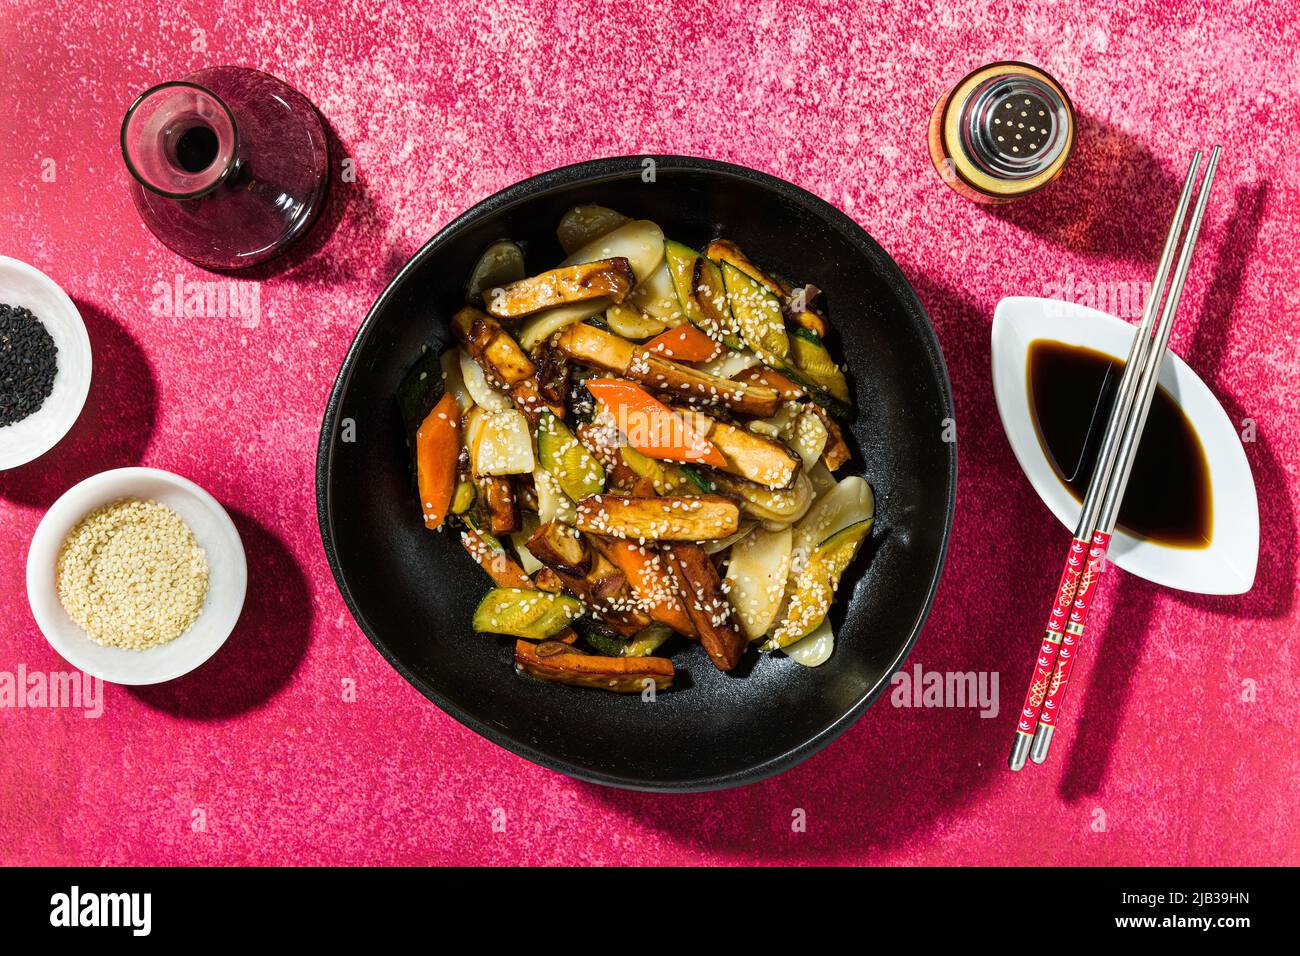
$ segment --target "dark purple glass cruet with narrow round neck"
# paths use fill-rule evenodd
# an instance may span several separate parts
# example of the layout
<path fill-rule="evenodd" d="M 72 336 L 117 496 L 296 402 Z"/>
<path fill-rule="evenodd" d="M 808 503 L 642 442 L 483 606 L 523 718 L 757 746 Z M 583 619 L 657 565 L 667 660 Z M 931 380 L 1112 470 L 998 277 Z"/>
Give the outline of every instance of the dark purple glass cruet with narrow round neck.
<path fill-rule="evenodd" d="M 268 73 L 216 66 L 140 94 L 122 120 L 131 199 L 165 246 L 242 269 L 311 229 L 329 186 L 316 108 Z"/>

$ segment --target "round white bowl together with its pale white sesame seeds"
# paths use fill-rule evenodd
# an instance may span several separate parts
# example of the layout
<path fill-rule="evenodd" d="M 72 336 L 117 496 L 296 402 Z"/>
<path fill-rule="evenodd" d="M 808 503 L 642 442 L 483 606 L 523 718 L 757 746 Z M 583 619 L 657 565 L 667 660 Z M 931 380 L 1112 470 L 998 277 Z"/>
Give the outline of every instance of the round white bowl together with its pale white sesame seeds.
<path fill-rule="evenodd" d="M 46 640 L 114 684 L 162 683 L 211 658 L 239 620 L 247 584 L 230 515 L 159 468 L 74 485 L 27 550 L 27 600 Z"/>

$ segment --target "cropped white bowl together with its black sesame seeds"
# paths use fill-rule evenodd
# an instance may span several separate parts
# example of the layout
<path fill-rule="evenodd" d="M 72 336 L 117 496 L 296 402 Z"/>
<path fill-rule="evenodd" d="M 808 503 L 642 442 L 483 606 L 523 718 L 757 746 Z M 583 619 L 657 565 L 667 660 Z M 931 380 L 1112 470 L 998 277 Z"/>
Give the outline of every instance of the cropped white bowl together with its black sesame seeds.
<path fill-rule="evenodd" d="M 90 336 L 77 306 L 40 269 L 0 256 L 0 471 L 68 434 L 90 376 Z"/>

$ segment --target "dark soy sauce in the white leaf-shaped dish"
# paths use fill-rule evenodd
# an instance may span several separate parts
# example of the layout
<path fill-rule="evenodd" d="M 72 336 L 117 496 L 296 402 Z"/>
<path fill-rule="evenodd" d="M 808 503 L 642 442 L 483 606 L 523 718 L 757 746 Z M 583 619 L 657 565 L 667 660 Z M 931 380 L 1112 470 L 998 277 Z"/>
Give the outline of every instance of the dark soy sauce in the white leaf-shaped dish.
<path fill-rule="evenodd" d="M 1039 444 L 1057 477 L 1083 501 L 1124 371 L 1123 359 L 1039 338 L 1030 343 L 1030 410 Z M 1174 548 L 1205 548 L 1213 501 L 1205 449 L 1164 386 L 1156 389 L 1119 527 Z"/>

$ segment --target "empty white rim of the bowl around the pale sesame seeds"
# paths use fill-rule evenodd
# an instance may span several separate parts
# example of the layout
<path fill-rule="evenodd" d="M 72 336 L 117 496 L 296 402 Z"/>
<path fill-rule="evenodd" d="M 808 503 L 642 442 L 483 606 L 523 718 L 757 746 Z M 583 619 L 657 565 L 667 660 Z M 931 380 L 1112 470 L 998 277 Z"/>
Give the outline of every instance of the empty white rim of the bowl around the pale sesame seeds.
<path fill-rule="evenodd" d="M 208 596 L 199 619 L 174 641 L 147 650 L 96 644 L 58 602 L 55 563 L 64 540 L 88 511 L 121 498 L 170 507 L 208 557 Z M 46 640 L 68 663 L 113 684 L 159 684 L 192 671 L 230 636 L 247 588 L 248 564 L 230 515 L 188 479 L 157 468 L 117 468 L 73 485 L 40 519 L 27 551 L 27 601 Z"/>

